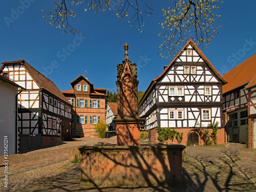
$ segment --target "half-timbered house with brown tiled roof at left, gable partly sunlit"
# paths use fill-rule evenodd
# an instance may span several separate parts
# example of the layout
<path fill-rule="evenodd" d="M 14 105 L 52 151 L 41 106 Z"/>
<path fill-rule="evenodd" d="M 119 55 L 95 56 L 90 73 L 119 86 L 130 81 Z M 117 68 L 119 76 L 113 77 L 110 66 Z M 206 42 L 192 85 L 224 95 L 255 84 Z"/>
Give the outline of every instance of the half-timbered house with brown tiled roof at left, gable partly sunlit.
<path fill-rule="evenodd" d="M 71 107 L 56 85 L 25 60 L 3 62 L 0 74 L 25 88 L 18 95 L 20 150 L 62 141 L 71 132 Z"/>

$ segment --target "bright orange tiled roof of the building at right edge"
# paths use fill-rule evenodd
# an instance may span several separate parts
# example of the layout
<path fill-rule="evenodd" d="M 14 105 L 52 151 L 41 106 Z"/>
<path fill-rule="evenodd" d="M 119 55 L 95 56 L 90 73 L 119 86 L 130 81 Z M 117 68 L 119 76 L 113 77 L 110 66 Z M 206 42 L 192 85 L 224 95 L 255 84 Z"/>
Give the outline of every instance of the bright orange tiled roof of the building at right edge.
<path fill-rule="evenodd" d="M 228 81 L 228 83 L 223 86 L 223 94 L 241 86 L 246 86 L 250 81 L 250 84 L 253 84 L 254 81 L 252 81 L 252 78 L 255 74 L 256 54 L 252 55 L 240 65 L 223 75 L 223 77 Z"/>

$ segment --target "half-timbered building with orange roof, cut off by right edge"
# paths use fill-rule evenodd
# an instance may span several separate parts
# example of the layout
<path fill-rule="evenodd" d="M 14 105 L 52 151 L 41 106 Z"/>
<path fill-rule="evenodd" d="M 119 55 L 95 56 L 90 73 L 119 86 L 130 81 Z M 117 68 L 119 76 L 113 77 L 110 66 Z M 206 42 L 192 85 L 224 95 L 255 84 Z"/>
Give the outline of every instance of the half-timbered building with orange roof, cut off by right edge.
<path fill-rule="evenodd" d="M 223 75 L 223 117 L 228 142 L 255 148 L 256 54 Z"/>

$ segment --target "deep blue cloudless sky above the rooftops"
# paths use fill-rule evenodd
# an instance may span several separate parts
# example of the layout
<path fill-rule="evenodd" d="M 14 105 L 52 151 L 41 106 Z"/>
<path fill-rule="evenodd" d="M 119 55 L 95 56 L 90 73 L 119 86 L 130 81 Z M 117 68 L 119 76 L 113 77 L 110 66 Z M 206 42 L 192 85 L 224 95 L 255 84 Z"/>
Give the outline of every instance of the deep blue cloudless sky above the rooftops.
<path fill-rule="evenodd" d="M 53 10 L 53 1 L 0 0 L 0 61 L 24 59 L 61 91 L 72 89 L 70 82 L 84 71 L 95 88 L 116 91 L 116 66 L 124 59 L 123 44 L 127 43 L 129 59 L 137 63 L 138 90 L 144 91 L 172 61 L 157 55 L 163 41 L 158 23 L 165 19 L 161 10 L 169 7 L 170 1 L 147 2 L 154 11 L 144 17 L 142 33 L 114 11 L 95 14 L 85 12 L 86 5 L 74 6 L 77 15 L 70 23 L 80 31 L 74 36 L 42 18 L 41 9 Z M 203 53 L 221 75 L 256 53 L 255 7 L 254 0 L 225 0 L 220 5 L 221 18 L 216 23 L 221 29 Z"/>

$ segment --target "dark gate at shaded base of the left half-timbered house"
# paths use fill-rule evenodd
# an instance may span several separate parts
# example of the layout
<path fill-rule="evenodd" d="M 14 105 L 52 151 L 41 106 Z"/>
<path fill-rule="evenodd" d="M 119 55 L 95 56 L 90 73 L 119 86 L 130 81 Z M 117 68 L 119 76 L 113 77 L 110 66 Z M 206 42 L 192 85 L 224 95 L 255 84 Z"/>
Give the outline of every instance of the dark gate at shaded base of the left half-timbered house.
<path fill-rule="evenodd" d="M 41 134 L 20 134 L 19 142 L 19 150 L 41 146 Z"/>

